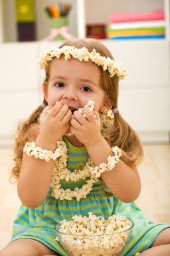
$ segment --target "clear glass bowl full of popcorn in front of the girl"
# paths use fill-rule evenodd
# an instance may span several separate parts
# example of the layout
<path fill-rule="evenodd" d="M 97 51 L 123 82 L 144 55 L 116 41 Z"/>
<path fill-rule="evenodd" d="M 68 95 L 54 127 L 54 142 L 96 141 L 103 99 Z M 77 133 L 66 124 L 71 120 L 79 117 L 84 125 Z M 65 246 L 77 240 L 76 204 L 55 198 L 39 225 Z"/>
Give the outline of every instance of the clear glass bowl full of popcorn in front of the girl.
<path fill-rule="evenodd" d="M 67 255 L 117 256 L 128 242 L 134 223 L 124 216 L 75 215 L 55 226 L 56 240 Z"/>

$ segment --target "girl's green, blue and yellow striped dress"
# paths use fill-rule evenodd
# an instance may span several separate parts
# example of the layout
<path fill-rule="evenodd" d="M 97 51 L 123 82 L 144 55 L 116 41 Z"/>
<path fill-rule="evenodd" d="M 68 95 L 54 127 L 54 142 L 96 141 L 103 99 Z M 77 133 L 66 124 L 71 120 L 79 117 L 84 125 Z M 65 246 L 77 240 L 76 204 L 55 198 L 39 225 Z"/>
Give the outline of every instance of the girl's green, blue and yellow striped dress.
<path fill-rule="evenodd" d="M 67 143 L 69 160 L 67 168 L 74 170 L 85 164 L 89 158 L 85 147 L 77 148 L 64 138 Z M 62 181 L 63 189 L 81 188 L 85 184 L 84 180 L 73 182 Z M 56 251 L 60 255 L 67 256 L 64 249 L 55 241 L 54 226 L 60 220 L 72 218 L 75 214 L 85 215 L 93 212 L 97 215 L 113 215 L 118 214 L 126 216 L 134 222 L 132 236 L 126 247 L 124 247 L 121 256 L 132 256 L 137 252 L 142 252 L 151 246 L 156 236 L 170 225 L 165 223 L 155 224 L 149 220 L 143 212 L 137 207 L 136 203 L 124 203 L 116 197 L 104 197 L 101 194 L 101 184 L 99 182 L 93 184 L 93 189 L 86 198 L 77 201 L 73 198 L 71 201 L 66 199 L 57 200 L 51 195 L 50 188 L 44 202 L 30 209 L 24 205 L 19 207 L 17 216 L 13 222 L 12 241 L 19 238 L 32 238 L 40 241 L 50 249 Z"/>

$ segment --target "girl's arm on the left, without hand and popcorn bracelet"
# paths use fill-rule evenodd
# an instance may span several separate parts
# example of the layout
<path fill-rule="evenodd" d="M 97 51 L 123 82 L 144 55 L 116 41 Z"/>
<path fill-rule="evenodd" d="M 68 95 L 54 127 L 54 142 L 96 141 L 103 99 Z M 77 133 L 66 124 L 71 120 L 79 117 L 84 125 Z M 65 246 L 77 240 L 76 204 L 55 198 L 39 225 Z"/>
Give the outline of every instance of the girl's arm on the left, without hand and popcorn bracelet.
<path fill-rule="evenodd" d="M 52 145 L 45 138 L 38 136 L 38 130 L 39 124 L 32 127 L 29 141 L 36 141 L 36 146 L 54 152 L 56 144 Z M 53 167 L 54 160 L 46 162 L 34 156 L 28 156 L 26 153 L 23 154 L 17 193 L 24 205 L 35 208 L 44 201 L 50 188 Z"/>

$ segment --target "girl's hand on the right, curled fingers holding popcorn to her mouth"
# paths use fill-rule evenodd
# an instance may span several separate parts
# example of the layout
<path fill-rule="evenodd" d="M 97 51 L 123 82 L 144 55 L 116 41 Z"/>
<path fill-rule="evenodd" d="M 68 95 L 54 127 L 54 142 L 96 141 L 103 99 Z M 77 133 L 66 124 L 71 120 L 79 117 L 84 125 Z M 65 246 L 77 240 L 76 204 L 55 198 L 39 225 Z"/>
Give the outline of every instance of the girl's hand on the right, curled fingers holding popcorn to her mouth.
<path fill-rule="evenodd" d="M 79 111 L 73 113 L 75 118 L 71 119 L 71 133 L 85 146 L 94 145 L 102 139 L 101 135 L 101 122 L 99 113 L 95 110 L 93 112 L 89 108 L 83 109 L 84 117 Z"/>

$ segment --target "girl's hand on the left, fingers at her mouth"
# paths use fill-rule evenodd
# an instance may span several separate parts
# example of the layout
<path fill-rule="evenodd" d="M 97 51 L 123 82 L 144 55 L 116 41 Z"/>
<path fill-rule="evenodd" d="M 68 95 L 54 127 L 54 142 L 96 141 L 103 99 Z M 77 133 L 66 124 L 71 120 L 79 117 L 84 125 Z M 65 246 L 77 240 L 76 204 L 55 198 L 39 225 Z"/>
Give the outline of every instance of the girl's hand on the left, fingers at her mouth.
<path fill-rule="evenodd" d="M 44 108 L 40 123 L 38 141 L 48 141 L 48 145 L 56 144 L 70 127 L 71 110 L 67 104 L 56 102 L 51 108 Z"/>

